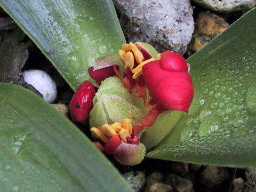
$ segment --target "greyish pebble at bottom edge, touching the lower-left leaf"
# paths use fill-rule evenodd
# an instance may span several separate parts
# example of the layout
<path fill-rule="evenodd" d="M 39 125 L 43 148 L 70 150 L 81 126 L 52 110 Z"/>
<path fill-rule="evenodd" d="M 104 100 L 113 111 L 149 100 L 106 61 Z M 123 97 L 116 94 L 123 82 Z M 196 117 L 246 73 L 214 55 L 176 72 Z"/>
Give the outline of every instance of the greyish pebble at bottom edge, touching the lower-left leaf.
<path fill-rule="evenodd" d="M 142 171 L 127 172 L 123 174 L 123 177 L 134 191 L 140 191 L 146 184 L 146 175 Z"/>

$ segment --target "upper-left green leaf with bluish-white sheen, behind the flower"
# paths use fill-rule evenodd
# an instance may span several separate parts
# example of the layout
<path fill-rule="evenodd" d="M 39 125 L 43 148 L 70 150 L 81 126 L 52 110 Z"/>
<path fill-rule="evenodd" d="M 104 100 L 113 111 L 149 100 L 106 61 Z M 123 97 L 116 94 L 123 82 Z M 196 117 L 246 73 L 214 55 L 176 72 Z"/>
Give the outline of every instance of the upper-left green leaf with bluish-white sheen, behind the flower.
<path fill-rule="evenodd" d="M 73 88 L 90 79 L 94 59 L 125 43 L 111 0 L 0 0 Z"/>

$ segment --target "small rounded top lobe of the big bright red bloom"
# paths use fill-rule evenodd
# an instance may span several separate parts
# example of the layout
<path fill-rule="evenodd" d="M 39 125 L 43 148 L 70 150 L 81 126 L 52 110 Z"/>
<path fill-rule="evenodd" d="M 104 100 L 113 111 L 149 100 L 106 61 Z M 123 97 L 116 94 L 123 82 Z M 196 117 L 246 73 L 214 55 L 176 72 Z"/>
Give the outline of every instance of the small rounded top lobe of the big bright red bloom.
<path fill-rule="evenodd" d="M 165 51 L 161 54 L 160 67 L 167 71 L 188 71 L 186 60 L 172 51 Z"/>

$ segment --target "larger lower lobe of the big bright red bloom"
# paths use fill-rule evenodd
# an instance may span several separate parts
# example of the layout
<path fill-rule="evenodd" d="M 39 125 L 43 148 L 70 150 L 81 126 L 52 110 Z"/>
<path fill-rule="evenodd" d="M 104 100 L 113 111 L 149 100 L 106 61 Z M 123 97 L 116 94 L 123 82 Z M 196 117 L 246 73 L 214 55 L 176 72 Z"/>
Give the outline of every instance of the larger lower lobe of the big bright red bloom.
<path fill-rule="evenodd" d="M 188 112 L 194 97 L 194 88 L 182 77 L 165 77 L 155 86 L 155 97 L 165 109 Z"/>

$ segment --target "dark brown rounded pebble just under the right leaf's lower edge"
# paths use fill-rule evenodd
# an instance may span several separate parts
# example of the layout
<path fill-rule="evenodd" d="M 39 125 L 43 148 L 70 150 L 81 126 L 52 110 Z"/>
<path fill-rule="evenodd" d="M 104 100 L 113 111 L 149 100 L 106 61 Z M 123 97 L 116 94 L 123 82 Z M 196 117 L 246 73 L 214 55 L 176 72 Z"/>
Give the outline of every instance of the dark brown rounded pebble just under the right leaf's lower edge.
<path fill-rule="evenodd" d="M 199 175 L 199 181 L 206 188 L 212 189 L 215 186 L 221 185 L 228 177 L 228 171 L 225 168 L 206 166 L 205 170 Z"/>

